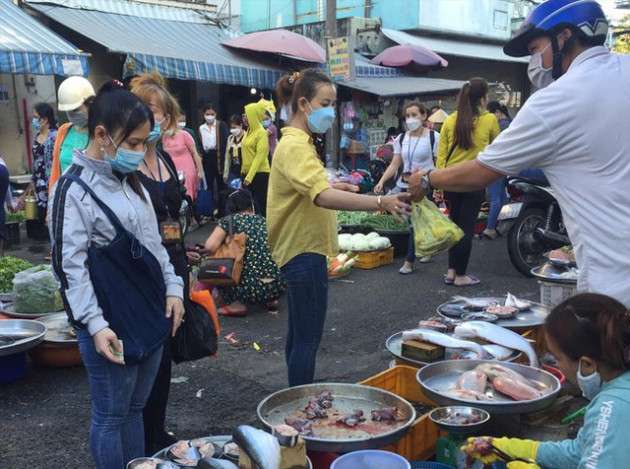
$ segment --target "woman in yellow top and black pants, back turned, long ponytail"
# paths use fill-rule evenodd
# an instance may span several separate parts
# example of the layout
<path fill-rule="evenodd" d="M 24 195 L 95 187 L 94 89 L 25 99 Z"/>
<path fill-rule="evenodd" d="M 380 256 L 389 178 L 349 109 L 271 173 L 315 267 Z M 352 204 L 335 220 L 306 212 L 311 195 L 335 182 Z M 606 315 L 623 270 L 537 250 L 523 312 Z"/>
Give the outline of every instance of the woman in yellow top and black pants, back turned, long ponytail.
<path fill-rule="evenodd" d="M 457 97 L 457 111 L 446 118 L 440 131 L 440 145 L 436 168 L 448 168 L 463 161 L 477 158 L 499 135 L 499 122 L 486 111 L 488 82 L 484 78 L 471 78 L 462 86 Z M 466 274 L 477 215 L 485 198 L 485 190 L 473 192 L 445 192 L 450 202 L 451 219 L 464 232 L 459 243 L 448 251 L 448 271 L 444 283 L 463 287 L 477 285 L 480 280 Z M 442 195 L 436 193 L 436 201 Z"/>

